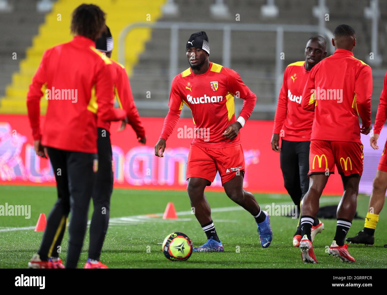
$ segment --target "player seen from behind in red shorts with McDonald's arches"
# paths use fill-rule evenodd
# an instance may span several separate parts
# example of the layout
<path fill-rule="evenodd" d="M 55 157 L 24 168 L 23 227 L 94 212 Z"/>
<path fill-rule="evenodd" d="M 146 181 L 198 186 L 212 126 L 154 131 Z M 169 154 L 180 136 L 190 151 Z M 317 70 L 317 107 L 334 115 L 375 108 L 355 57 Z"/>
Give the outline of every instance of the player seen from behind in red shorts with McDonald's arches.
<path fill-rule="evenodd" d="M 320 61 L 309 73 L 301 106 L 314 111 L 309 154 L 310 186 L 301 206 L 301 257 L 317 263 L 313 253 L 311 228 L 319 210 L 319 198 L 334 173 L 341 175 L 344 194 L 337 208 L 336 235 L 329 254 L 353 262 L 345 236 L 356 211 L 359 181 L 363 173 L 363 145 L 360 132 L 371 130 L 372 70 L 354 58 L 356 34 L 342 24 L 334 30 L 333 55 Z M 359 126 L 359 115 L 362 127 Z"/>

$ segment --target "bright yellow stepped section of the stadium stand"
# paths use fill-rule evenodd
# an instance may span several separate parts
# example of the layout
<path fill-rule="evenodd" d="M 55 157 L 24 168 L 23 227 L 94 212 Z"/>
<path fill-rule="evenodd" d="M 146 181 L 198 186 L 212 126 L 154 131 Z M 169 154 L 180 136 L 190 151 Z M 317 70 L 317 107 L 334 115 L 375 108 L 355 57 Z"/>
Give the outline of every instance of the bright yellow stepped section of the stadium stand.
<path fill-rule="evenodd" d="M 24 1 L 31 2 L 18 3 L 18 7 L 24 7 L 22 11 L 29 14 L 32 19 L 36 13 L 36 1 Z M 99 5 L 104 12 L 106 12 L 106 22 L 111 27 L 111 34 L 117 41 L 118 34 L 124 26 L 130 22 L 138 22 L 146 19 L 147 14 L 151 14 L 151 21 L 157 20 L 160 12 L 161 5 L 164 0 L 144 0 L 143 3 L 131 2 L 131 1 L 104 1 L 94 0 L 93 3 Z M 26 4 L 26 5 L 24 5 Z M 32 45 L 26 49 L 28 43 L 24 43 L 24 49 L 26 51 L 25 58 L 19 59 L 20 69 L 12 74 L 7 72 L 8 75 L 12 74 L 12 82 L 5 89 L 5 97 L 1 99 L 0 113 L 26 113 L 26 94 L 28 86 L 31 83 L 36 68 L 39 65 L 41 56 L 45 49 L 50 48 L 56 44 L 64 43 L 72 39 L 70 34 L 70 15 L 71 12 L 79 5 L 77 0 L 57 0 L 53 5 L 53 9 L 50 13 L 46 14 L 44 23 L 39 27 L 38 34 L 33 37 Z M 20 12 L 20 15 L 22 12 Z M 16 10 L 12 15 L 19 15 Z M 9 17 L 12 18 L 13 16 Z M 34 20 L 36 22 L 36 20 Z M 16 31 L 22 31 L 25 23 L 19 20 L 19 29 Z M 9 24 L 4 23 L 5 27 L 10 27 Z M 36 24 L 36 27 L 39 23 Z M 36 28 L 35 28 L 36 31 Z M 30 34 L 29 38 L 33 36 Z M 26 36 L 27 37 L 27 36 Z M 150 38 L 150 29 L 138 29 L 132 31 L 128 35 L 128 50 L 125 54 L 126 69 L 130 74 L 132 71 L 132 65 L 137 63 L 137 57 L 144 48 L 144 43 Z M 27 39 L 27 38 L 26 38 Z M 135 39 L 136 42 L 129 43 L 130 40 Z M 27 42 L 27 41 L 26 41 Z M 12 46 L 10 47 L 12 49 Z M 10 48 L 7 50 L 10 51 Z M 11 50 L 12 51 L 12 50 Z M 9 58 L 10 54 L 5 55 L 4 58 Z M 117 50 L 113 50 L 112 58 L 116 60 Z M 15 61 L 13 61 L 15 63 Z M 41 101 L 42 111 L 46 109 L 46 100 Z"/>

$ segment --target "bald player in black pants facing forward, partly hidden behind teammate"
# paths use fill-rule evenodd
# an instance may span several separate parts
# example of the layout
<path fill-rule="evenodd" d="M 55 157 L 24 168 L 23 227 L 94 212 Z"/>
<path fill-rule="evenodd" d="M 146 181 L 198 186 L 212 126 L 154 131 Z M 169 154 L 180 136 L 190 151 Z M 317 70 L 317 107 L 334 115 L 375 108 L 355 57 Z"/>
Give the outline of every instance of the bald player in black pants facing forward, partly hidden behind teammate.
<path fill-rule="evenodd" d="M 327 55 L 326 47 L 327 41 L 323 37 L 311 37 L 305 46 L 305 61 L 297 61 L 286 67 L 274 118 L 271 148 L 280 153 L 284 186 L 297 206 L 297 212 L 301 211 L 301 200 L 309 188 L 309 145 L 314 118 L 312 112 L 301 107 L 302 91 L 310 70 Z M 316 217 L 312 227 L 312 242 L 323 229 L 324 223 Z M 298 220 L 293 246 L 298 247 L 300 240 L 301 223 Z"/>

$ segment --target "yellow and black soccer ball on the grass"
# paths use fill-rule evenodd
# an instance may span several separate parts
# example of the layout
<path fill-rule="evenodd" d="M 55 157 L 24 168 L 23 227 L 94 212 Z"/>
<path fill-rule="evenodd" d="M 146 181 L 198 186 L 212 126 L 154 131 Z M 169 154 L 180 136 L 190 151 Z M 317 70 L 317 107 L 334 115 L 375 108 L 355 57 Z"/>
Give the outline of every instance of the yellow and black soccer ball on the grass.
<path fill-rule="evenodd" d="M 192 241 L 182 232 L 173 232 L 163 242 L 163 253 L 171 261 L 185 261 L 192 254 Z"/>

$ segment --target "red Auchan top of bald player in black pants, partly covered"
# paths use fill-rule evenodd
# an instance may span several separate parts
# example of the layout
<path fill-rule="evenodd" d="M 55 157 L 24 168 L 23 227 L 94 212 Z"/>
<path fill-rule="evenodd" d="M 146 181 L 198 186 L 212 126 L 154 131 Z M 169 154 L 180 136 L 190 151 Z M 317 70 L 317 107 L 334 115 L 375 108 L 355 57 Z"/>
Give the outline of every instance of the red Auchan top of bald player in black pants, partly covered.
<path fill-rule="evenodd" d="M 310 72 L 304 65 L 305 61 L 297 61 L 286 67 L 274 117 L 273 134 L 292 142 L 309 141 L 312 133 L 314 113 L 301 106 L 302 91 Z"/>

